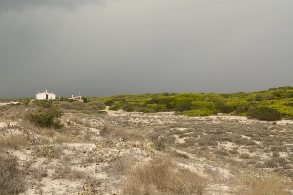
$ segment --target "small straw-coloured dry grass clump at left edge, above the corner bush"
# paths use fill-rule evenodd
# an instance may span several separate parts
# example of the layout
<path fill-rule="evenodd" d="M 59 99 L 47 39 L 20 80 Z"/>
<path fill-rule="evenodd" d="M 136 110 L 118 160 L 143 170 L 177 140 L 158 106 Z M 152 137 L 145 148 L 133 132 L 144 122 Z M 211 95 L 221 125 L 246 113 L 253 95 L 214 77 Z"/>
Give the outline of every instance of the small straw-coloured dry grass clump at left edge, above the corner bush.
<path fill-rule="evenodd" d="M 26 137 L 24 137 L 23 135 L 11 135 L 10 137 L 0 137 L 1 148 L 19 150 L 27 145 L 28 143 L 26 141 Z"/>

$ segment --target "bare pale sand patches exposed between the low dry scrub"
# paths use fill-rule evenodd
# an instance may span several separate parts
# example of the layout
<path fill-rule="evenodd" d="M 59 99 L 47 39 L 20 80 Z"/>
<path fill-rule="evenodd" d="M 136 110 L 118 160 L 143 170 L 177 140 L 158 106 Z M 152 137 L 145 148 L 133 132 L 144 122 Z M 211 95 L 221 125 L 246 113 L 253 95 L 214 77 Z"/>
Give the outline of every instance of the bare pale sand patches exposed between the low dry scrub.
<path fill-rule="evenodd" d="M 209 116 L 209 117 L 186 117 L 186 116 L 175 116 L 173 112 L 166 113 L 155 113 L 155 114 L 144 114 L 144 113 L 128 113 L 119 111 L 110 111 L 105 110 L 108 115 L 86 115 L 86 114 L 78 114 L 78 113 L 67 113 L 63 117 L 64 124 L 67 125 L 70 117 L 79 117 L 83 121 L 83 124 L 87 124 L 86 126 L 82 126 L 76 124 L 71 121 L 71 126 L 74 128 L 79 128 L 80 132 L 78 132 L 78 136 L 80 137 L 90 137 L 90 139 L 94 140 L 92 143 L 62 143 L 60 144 L 60 148 L 62 148 L 62 155 L 58 158 L 46 158 L 46 157 L 37 157 L 34 156 L 34 148 L 27 147 L 23 150 L 6 150 L 7 153 L 18 156 L 20 161 L 24 163 L 25 161 L 33 161 L 31 166 L 34 167 L 44 167 L 47 170 L 47 175 L 42 178 L 34 178 L 30 180 L 30 187 L 26 190 L 25 193 L 21 193 L 20 195 L 35 195 L 35 194 L 43 194 L 43 195 L 73 195 L 77 194 L 80 189 L 83 188 L 84 179 L 76 178 L 52 178 L 54 172 L 56 171 L 56 167 L 58 166 L 66 166 L 71 170 L 74 170 L 76 173 L 83 173 L 87 176 L 90 176 L 94 179 L 101 181 L 101 189 L 104 189 L 103 193 L 105 195 L 113 195 L 113 194 L 121 194 L 121 189 L 119 183 L 124 179 L 124 176 L 116 177 L 109 173 L 108 162 L 90 162 L 86 161 L 90 154 L 93 153 L 93 149 L 97 146 L 95 143 L 103 143 L 104 149 L 103 152 L 110 156 L 113 153 L 118 153 L 120 156 L 131 156 L 137 161 L 147 161 L 150 159 L 150 156 L 147 156 L 146 153 L 142 150 L 142 148 L 137 146 L 135 141 L 132 142 L 123 142 L 126 146 L 121 147 L 119 144 L 121 142 L 118 138 L 114 140 L 106 140 L 104 137 L 101 137 L 101 125 L 119 125 L 124 127 L 131 127 L 133 129 L 133 125 L 136 125 L 139 128 L 141 125 L 145 125 L 146 127 L 151 128 L 160 128 L 162 125 L 170 125 L 170 124 L 192 124 L 205 121 L 210 124 L 219 124 L 219 123 L 235 123 L 235 124 L 271 124 L 272 122 L 268 121 L 260 121 L 256 119 L 247 119 L 247 117 L 239 117 L 239 116 L 226 116 L 226 115 L 217 115 L 217 116 Z M 293 121 L 288 120 L 280 120 L 276 121 L 277 125 L 285 125 L 285 124 L 293 124 Z M 20 129 L 15 129 L 13 126 L 17 126 L 18 122 L 10 122 L 10 127 L 6 128 L 5 122 L 0 122 L 0 128 L 5 131 L 5 135 L 22 135 L 24 132 Z M 135 126 L 135 127 L 136 127 Z M 179 127 L 179 131 L 185 131 L 187 128 Z M 4 134 L 2 135 L 4 136 Z M 251 137 L 241 135 L 242 138 L 251 139 Z M 179 135 L 174 135 L 174 139 L 176 143 L 182 144 L 185 143 L 186 139 L 180 138 Z M 115 147 L 108 147 L 107 144 L 114 143 Z M 116 145 L 115 145 L 116 144 Z M 128 145 L 127 145 L 128 144 Z M 256 144 L 259 144 L 256 143 Z M 113 145 L 113 144 L 112 144 Z M 131 147 L 129 147 L 131 145 Z M 230 142 L 222 142 L 218 148 L 225 148 L 227 150 L 231 150 L 235 148 L 236 145 Z M 229 180 L 233 177 L 233 174 L 229 170 L 228 166 L 219 166 L 216 162 L 207 159 L 205 157 L 199 157 L 195 154 L 188 153 L 186 151 L 181 151 L 179 149 L 171 148 L 170 150 L 177 151 L 177 153 L 181 153 L 183 155 L 188 156 L 188 160 L 181 160 L 177 162 L 177 165 L 189 169 L 192 172 L 199 174 L 200 176 L 210 178 L 211 175 L 216 176 L 217 178 L 222 178 L 222 181 Z M 246 153 L 248 150 L 239 148 L 238 151 L 241 153 Z M 106 156 L 105 155 L 105 156 Z M 255 153 L 254 155 L 258 155 L 261 158 L 268 158 L 268 156 L 264 154 Z M 286 153 L 280 153 L 280 156 L 286 156 Z M 33 172 L 31 173 L 33 174 Z M 30 176 L 27 176 L 30 178 Z M 120 182 L 118 182 L 120 181 Z M 229 187 L 224 183 L 215 183 L 212 181 L 209 184 L 209 194 L 215 195 L 225 195 L 227 194 Z M 208 195 L 208 194 L 207 194 Z M 228 195 L 228 194 L 227 194 Z"/>

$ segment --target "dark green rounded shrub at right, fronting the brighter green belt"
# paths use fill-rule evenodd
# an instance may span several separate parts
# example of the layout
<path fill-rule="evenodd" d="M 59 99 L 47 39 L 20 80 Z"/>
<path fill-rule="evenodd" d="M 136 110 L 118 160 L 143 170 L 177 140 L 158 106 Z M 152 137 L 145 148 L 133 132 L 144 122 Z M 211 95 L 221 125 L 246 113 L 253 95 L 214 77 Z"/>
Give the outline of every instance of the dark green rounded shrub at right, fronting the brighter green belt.
<path fill-rule="evenodd" d="M 281 113 L 277 109 L 266 106 L 251 107 L 248 111 L 247 116 L 269 121 L 281 119 Z"/>

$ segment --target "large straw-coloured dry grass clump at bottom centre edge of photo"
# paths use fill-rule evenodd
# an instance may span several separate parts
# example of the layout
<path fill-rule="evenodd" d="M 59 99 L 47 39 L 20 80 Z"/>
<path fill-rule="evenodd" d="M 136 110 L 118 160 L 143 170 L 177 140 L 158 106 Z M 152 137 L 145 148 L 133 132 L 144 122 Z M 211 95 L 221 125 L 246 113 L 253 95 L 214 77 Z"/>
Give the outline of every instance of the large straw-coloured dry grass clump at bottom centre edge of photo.
<path fill-rule="evenodd" d="M 129 170 L 123 186 L 131 195 L 203 195 L 207 180 L 168 159 L 158 158 Z"/>

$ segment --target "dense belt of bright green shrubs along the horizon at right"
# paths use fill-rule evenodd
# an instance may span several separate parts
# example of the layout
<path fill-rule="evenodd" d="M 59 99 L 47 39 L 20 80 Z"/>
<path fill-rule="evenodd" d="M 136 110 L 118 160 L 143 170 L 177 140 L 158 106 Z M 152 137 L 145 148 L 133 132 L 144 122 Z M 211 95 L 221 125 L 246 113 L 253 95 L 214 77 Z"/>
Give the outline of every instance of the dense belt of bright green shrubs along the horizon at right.
<path fill-rule="evenodd" d="M 162 93 L 88 98 L 88 102 L 94 100 L 110 105 L 109 110 L 123 109 L 127 112 L 176 111 L 177 115 L 187 116 L 226 113 L 262 120 L 293 119 L 293 87 L 291 86 L 251 93 Z"/>

